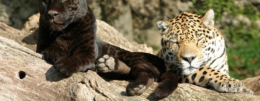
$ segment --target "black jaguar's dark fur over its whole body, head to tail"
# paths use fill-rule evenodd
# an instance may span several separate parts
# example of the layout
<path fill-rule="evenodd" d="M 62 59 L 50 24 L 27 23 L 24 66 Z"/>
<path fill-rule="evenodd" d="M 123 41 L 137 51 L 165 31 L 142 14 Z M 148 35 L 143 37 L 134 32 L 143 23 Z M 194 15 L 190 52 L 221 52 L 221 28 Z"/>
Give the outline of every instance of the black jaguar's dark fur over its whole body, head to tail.
<path fill-rule="evenodd" d="M 96 19 L 86 0 L 39 0 L 39 11 L 36 52 L 54 63 L 58 72 L 71 76 L 92 70 L 105 77 L 134 79 L 127 86 L 128 93 L 140 84 L 148 88 L 154 81 L 163 81 L 155 90 L 158 98 L 168 96 L 177 87 L 176 76 L 165 73 L 164 61 L 159 57 L 132 53 L 96 38 Z M 103 73 L 96 68 L 99 62 L 96 59 L 103 55 L 115 59 L 113 71 Z M 166 86 L 171 89 L 164 89 Z"/>

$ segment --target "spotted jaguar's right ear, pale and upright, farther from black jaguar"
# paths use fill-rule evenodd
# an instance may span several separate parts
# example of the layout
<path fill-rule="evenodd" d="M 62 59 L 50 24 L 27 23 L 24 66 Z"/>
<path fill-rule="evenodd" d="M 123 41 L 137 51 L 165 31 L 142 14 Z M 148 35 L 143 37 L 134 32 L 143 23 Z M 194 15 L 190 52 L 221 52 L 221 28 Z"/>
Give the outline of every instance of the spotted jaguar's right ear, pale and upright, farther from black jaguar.
<path fill-rule="evenodd" d="M 212 9 L 209 9 L 203 16 L 202 16 L 202 21 L 208 26 L 214 26 L 214 11 Z"/>

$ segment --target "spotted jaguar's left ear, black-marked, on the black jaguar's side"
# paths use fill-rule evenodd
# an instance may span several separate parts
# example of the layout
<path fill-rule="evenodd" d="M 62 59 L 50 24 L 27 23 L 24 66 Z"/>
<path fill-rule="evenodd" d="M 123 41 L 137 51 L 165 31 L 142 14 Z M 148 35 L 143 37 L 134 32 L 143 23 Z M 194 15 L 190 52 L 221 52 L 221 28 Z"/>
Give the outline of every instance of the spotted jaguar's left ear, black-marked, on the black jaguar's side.
<path fill-rule="evenodd" d="M 169 21 L 165 19 L 159 19 L 157 20 L 157 27 L 159 28 L 161 35 L 164 35 L 169 31 Z"/>

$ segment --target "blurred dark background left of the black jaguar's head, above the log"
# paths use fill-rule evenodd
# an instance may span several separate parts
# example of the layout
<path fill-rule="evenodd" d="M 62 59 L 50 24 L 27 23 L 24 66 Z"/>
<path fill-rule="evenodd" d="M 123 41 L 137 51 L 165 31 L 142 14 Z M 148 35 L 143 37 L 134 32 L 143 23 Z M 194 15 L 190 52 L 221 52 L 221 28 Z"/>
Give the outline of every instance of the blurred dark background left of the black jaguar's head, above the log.
<path fill-rule="evenodd" d="M 22 29 L 27 19 L 38 12 L 38 0 L 0 0 L 0 22 Z"/>

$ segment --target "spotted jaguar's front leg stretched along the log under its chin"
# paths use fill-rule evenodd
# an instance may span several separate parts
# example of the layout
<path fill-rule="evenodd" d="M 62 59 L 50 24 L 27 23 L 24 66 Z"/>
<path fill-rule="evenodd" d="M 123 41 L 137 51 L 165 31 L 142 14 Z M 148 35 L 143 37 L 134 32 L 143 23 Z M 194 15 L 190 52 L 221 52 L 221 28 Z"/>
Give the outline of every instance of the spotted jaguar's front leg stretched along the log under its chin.
<path fill-rule="evenodd" d="M 192 83 L 200 87 L 211 87 L 218 92 L 246 93 L 253 95 L 253 91 L 246 88 L 239 80 L 231 78 L 219 70 L 201 67 L 185 78 L 186 83 Z"/>

